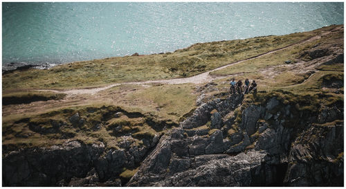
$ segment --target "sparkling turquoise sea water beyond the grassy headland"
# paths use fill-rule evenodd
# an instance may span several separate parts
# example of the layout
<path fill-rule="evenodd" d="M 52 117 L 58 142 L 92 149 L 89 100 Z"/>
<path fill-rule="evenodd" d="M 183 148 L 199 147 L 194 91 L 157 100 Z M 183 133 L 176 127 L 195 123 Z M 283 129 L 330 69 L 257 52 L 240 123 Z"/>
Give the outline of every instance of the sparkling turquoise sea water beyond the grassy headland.
<path fill-rule="evenodd" d="M 2 3 L 3 66 L 175 51 L 343 24 L 339 3 Z"/>

